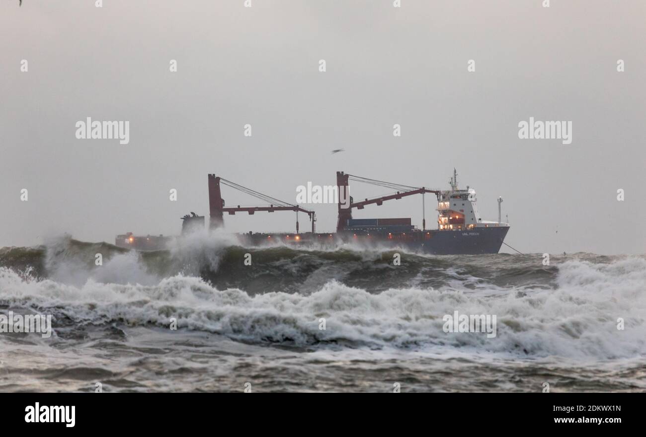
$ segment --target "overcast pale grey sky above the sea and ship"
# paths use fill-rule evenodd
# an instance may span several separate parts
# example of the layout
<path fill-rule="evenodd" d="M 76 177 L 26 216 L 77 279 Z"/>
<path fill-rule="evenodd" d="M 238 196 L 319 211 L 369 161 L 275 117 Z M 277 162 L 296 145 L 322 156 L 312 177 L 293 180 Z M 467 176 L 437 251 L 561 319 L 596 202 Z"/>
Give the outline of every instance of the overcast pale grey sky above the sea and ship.
<path fill-rule="evenodd" d="M 295 202 L 337 170 L 446 189 L 455 167 L 483 219 L 503 196 L 522 252 L 644 253 L 646 2 L 541 3 L 2 1 L 0 246 L 177 234 L 183 214 L 208 215 L 208 173 Z M 86 117 L 129 121 L 130 143 L 76 139 Z M 572 143 L 519 139 L 529 117 L 572 121 Z M 335 228 L 335 205 L 304 206 Z M 355 213 L 389 216 L 421 226 L 421 198 Z M 293 230 L 294 214 L 225 224 Z"/>

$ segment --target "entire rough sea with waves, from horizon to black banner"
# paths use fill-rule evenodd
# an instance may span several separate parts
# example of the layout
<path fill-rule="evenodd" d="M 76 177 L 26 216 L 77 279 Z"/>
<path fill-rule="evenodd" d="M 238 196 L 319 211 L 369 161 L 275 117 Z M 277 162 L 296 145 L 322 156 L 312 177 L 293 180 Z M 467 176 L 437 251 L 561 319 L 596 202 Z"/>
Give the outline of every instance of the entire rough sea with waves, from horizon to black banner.
<path fill-rule="evenodd" d="M 234 244 L 0 249 L 0 314 L 53 320 L 0 333 L 0 391 L 646 391 L 645 256 Z M 455 310 L 495 338 L 444 332 Z"/>

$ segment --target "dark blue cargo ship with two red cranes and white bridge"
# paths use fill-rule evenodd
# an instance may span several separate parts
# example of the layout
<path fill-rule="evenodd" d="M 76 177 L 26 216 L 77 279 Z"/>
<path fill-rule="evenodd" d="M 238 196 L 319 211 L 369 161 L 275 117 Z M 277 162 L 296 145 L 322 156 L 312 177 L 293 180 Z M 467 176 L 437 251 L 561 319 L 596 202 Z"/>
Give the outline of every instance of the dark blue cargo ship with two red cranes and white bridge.
<path fill-rule="evenodd" d="M 335 232 L 316 232 L 316 214 L 293 203 L 280 201 L 251 188 L 243 187 L 214 174 L 209 180 L 209 229 L 224 227 L 224 214 L 233 216 L 247 212 L 297 212 L 296 231 L 293 233 L 267 233 L 249 231 L 236 234 L 242 245 L 271 245 L 288 243 L 290 245 L 335 246 L 353 243 L 358 247 L 397 248 L 419 251 L 426 254 L 495 254 L 499 252 L 509 230 L 509 223 L 501 221 L 502 198 L 498 198 L 498 221 L 483 220 L 477 209 L 474 188 L 461 189 L 457 184 L 457 171 L 453 169 L 450 189 L 431 190 L 425 187 L 412 187 L 397 183 L 362 178 L 344 172 L 337 172 L 337 185 L 333 194 L 338 198 L 338 219 Z M 349 196 L 349 181 L 359 181 L 380 187 L 394 189 L 393 194 L 378 198 L 355 201 Z M 221 186 L 234 188 L 269 203 L 261 207 L 227 206 L 222 198 Z M 422 227 L 413 225 L 410 218 L 353 218 L 353 209 L 361 210 L 368 205 L 382 205 L 384 201 L 401 199 L 420 194 L 422 196 Z M 425 194 L 433 194 L 437 201 L 437 229 L 426 229 Z M 300 232 L 298 212 L 306 214 L 311 222 L 310 232 Z M 205 227 L 204 216 L 194 212 L 182 217 L 182 234 Z M 116 237 L 116 245 L 136 250 L 165 249 L 171 237 L 134 236 L 131 233 Z"/>

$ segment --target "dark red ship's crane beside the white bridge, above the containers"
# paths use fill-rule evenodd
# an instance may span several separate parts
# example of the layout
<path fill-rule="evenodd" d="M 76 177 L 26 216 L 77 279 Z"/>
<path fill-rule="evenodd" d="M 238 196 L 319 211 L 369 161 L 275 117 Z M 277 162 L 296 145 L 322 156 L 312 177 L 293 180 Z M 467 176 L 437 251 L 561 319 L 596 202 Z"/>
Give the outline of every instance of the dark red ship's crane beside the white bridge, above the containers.
<path fill-rule="evenodd" d="M 354 201 L 349 196 L 348 180 L 351 179 L 357 182 L 369 183 L 371 185 L 379 185 L 380 187 L 393 188 L 397 190 L 395 194 L 382 196 L 374 199 L 365 199 L 360 202 Z M 401 199 L 413 194 L 433 193 L 435 196 L 439 194 L 438 190 L 429 190 L 424 187 L 410 187 L 409 185 L 401 185 L 398 183 L 384 182 L 377 179 L 362 178 L 361 176 L 354 176 L 352 174 L 345 174 L 344 172 L 337 172 L 337 185 L 339 186 L 339 219 L 337 221 L 337 232 L 345 229 L 348 224 L 348 219 L 352 218 L 352 208 L 363 209 L 366 205 L 376 203 L 382 205 L 384 201 L 391 199 Z M 401 191 L 400 191 L 401 190 Z M 342 195 L 343 194 L 343 195 Z M 349 202 L 342 202 L 342 199 L 349 199 Z M 422 229 L 426 229 L 426 213 L 424 212 L 424 198 L 422 197 Z"/>

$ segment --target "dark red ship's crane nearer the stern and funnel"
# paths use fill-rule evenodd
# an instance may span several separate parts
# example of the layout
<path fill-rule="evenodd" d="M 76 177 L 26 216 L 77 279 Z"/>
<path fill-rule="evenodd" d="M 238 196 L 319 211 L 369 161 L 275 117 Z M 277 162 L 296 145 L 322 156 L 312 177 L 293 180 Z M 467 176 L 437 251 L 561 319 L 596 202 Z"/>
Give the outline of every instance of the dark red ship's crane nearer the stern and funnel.
<path fill-rule="evenodd" d="M 224 199 L 222 199 L 222 193 L 220 192 L 220 183 L 227 185 L 227 187 L 231 187 L 238 191 L 242 191 L 246 194 L 249 194 L 257 199 L 266 201 L 270 205 L 268 207 L 240 207 L 240 205 L 238 205 L 237 207 L 225 207 Z M 314 223 L 317 220 L 316 214 L 314 211 L 306 210 L 304 208 L 299 207 L 298 205 L 293 205 L 291 203 L 287 203 L 285 201 L 272 198 L 271 196 L 267 196 L 266 194 L 262 194 L 255 190 L 252 190 L 251 188 L 243 187 L 242 185 L 238 185 L 234 182 L 227 181 L 227 179 L 220 178 L 219 176 L 216 177 L 214 174 L 209 174 L 209 213 L 211 215 L 211 218 L 209 221 L 210 229 L 215 229 L 215 228 L 224 226 L 225 212 L 233 216 L 236 212 L 248 212 L 250 215 L 253 215 L 256 211 L 267 211 L 267 212 L 295 211 L 297 213 L 297 216 L 296 216 L 297 234 L 298 234 L 298 212 L 299 211 L 304 212 L 305 214 L 307 214 L 307 216 L 309 216 L 309 219 L 312 222 L 312 233 L 314 233 L 314 230 L 315 230 Z"/>

